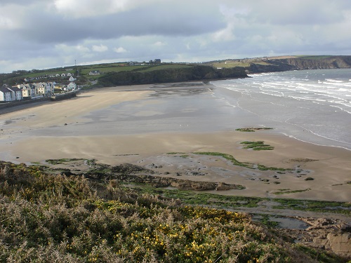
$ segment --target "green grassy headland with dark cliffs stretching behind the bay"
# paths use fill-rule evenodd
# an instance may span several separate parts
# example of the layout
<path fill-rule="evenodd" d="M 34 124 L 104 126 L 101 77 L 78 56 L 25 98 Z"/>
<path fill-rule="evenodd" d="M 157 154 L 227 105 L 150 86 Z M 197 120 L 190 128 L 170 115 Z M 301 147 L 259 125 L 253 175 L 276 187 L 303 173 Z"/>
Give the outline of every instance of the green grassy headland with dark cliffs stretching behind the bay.
<path fill-rule="evenodd" d="M 211 72 L 206 67 L 211 67 Z M 11 74 L 0 74 L 0 81 L 9 85 L 23 83 L 24 79 L 29 79 L 29 82 L 56 81 L 57 83 L 65 83 L 67 82 L 67 77 L 49 78 L 48 76 L 72 73 L 76 77 L 79 76 L 76 81 L 79 85 L 86 85 L 88 87 L 91 86 L 91 81 L 94 81 L 94 83 L 98 81 L 95 86 L 113 86 L 236 78 L 246 76 L 244 70 L 249 73 L 259 73 L 282 72 L 296 69 L 338 69 L 350 67 L 351 56 L 346 55 L 244 58 L 216 60 L 201 64 L 116 62 L 44 70 L 33 69 L 32 71 L 18 70 Z M 201 68 L 202 73 L 199 71 L 199 68 Z M 100 74 L 91 76 L 89 75 L 91 71 L 99 71 Z"/>

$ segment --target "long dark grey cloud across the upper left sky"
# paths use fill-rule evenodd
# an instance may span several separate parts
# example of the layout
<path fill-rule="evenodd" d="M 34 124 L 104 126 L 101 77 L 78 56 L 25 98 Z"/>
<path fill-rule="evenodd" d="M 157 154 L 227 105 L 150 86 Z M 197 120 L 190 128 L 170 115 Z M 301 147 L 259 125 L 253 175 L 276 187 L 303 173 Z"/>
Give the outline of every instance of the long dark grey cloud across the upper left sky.
<path fill-rule="evenodd" d="M 180 8 L 176 6 L 176 8 Z M 124 13 L 92 18 L 67 19 L 60 15 L 37 12 L 27 17 L 27 25 L 18 30 L 25 39 L 39 42 L 72 42 L 79 39 L 112 39 L 120 36 L 190 36 L 214 32 L 225 27 L 219 13 L 170 8 L 167 3 L 135 8 Z"/>

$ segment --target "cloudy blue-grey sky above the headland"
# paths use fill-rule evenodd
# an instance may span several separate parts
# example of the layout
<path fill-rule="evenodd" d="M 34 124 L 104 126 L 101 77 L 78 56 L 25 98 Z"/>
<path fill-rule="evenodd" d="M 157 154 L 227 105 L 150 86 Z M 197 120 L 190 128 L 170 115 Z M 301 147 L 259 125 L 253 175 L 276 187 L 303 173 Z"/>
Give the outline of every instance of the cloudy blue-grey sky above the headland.
<path fill-rule="evenodd" d="M 0 73 L 351 55 L 349 0 L 1 0 Z"/>

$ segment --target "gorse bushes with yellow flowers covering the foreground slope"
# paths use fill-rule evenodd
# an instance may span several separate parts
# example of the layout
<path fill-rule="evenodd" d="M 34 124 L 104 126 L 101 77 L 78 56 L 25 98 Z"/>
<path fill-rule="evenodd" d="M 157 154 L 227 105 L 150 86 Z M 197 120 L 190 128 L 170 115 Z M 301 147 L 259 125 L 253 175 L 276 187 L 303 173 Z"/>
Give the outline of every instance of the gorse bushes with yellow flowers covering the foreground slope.
<path fill-rule="evenodd" d="M 344 262 L 227 210 L 0 163 L 0 262 Z"/>

